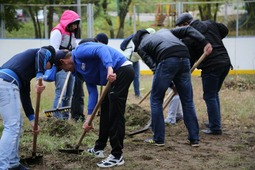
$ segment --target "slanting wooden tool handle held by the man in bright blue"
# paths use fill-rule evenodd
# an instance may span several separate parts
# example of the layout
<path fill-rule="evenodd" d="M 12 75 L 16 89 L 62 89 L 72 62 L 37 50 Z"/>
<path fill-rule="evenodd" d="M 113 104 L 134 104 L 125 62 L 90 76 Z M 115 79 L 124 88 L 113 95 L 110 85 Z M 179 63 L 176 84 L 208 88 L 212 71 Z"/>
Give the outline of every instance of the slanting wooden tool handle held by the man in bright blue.
<path fill-rule="evenodd" d="M 101 106 L 106 94 L 108 93 L 110 87 L 111 87 L 111 82 L 108 81 L 105 88 L 104 88 L 104 90 L 103 90 L 102 95 L 100 96 L 100 98 L 99 98 L 99 100 L 98 100 L 98 102 L 97 102 L 97 104 L 96 104 L 96 106 L 95 106 L 95 108 L 94 108 L 94 110 L 91 114 L 88 125 L 92 124 L 92 121 L 93 121 L 94 117 L 96 116 L 96 113 L 97 113 L 98 109 L 100 108 L 100 106 Z M 81 142 L 82 142 L 83 138 L 85 137 L 85 135 L 86 135 L 86 131 L 84 130 L 81 137 L 80 137 L 80 139 L 79 139 L 78 144 L 75 146 L 75 149 L 77 149 L 77 150 L 79 149 L 79 147 L 81 145 Z"/>

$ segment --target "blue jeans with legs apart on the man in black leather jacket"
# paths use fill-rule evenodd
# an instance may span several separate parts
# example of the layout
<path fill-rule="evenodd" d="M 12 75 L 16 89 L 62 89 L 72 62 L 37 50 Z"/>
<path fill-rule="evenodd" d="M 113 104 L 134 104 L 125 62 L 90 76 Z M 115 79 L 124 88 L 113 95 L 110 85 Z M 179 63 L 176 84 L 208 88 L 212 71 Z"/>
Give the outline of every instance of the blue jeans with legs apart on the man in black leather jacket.
<path fill-rule="evenodd" d="M 183 120 L 188 129 L 188 140 L 199 140 L 199 125 L 193 102 L 189 58 L 170 57 L 160 62 L 153 77 L 150 105 L 152 118 L 153 140 L 164 143 L 165 124 L 163 100 L 166 90 L 174 82 L 180 96 Z"/>

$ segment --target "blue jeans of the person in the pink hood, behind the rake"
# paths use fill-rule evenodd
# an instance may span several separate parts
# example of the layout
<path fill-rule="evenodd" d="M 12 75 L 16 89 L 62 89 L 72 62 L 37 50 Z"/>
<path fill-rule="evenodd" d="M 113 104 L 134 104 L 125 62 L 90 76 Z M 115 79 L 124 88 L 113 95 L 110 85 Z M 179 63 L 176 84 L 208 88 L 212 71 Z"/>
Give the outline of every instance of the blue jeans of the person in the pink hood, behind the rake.
<path fill-rule="evenodd" d="M 56 74 L 56 80 L 55 80 L 56 89 L 55 89 L 55 98 L 54 98 L 53 108 L 56 108 L 58 105 L 58 101 L 59 101 L 62 89 L 64 87 L 66 76 L 67 76 L 67 72 L 65 72 L 64 70 L 61 70 L 57 72 Z M 70 106 L 70 100 L 73 94 L 73 86 L 74 86 L 74 77 L 73 75 L 70 75 L 65 93 L 63 95 L 61 104 L 59 106 L 60 108 L 65 106 Z M 54 112 L 53 115 L 54 117 L 58 119 L 68 119 L 69 117 L 68 112 L 65 112 L 65 113 Z"/>

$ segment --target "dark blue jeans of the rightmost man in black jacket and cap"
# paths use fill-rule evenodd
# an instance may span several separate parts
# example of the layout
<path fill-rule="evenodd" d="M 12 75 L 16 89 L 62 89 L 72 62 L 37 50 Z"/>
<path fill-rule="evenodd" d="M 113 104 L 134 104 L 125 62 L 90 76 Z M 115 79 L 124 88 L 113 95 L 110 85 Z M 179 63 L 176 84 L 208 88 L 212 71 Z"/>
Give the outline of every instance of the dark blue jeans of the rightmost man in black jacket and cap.
<path fill-rule="evenodd" d="M 210 72 L 202 71 L 203 98 L 207 106 L 209 128 L 212 131 L 221 130 L 221 112 L 219 91 L 228 75 L 230 66 L 217 68 Z"/>

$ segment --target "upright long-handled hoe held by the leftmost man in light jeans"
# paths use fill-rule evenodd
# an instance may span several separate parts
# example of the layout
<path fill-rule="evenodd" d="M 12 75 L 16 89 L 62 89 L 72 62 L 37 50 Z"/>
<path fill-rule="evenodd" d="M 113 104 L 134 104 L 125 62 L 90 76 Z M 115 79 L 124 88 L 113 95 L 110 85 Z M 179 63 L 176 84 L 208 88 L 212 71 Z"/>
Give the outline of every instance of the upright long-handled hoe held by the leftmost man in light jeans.
<path fill-rule="evenodd" d="M 42 86 L 42 78 L 38 79 L 39 86 Z M 37 93 L 36 95 L 36 108 L 35 108 L 35 122 L 34 122 L 34 131 L 38 130 L 38 121 L 39 121 L 39 110 L 40 110 L 40 99 L 41 93 Z M 20 161 L 24 164 L 39 164 L 42 162 L 43 155 L 40 153 L 36 153 L 36 143 L 37 143 L 37 134 L 33 134 L 33 150 L 32 157 L 21 159 Z"/>

